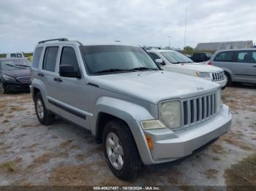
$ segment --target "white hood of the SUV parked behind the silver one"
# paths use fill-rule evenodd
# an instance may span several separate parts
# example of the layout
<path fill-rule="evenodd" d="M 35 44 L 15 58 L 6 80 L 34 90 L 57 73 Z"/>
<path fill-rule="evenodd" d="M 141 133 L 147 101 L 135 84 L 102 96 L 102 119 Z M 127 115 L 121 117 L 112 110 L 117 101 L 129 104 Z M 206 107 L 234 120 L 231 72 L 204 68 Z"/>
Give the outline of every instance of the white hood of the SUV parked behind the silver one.
<path fill-rule="evenodd" d="M 217 71 L 223 71 L 221 68 L 211 65 L 206 65 L 206 63 L 178 63 L 175 64 L 180 69 L 189 69 L 193 71 L 201 71 L 201 72 L 217 72 Z M 168 67 L 168 64 L 165 66 Z"/>

